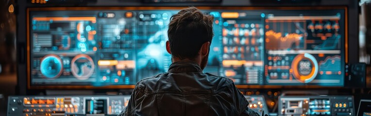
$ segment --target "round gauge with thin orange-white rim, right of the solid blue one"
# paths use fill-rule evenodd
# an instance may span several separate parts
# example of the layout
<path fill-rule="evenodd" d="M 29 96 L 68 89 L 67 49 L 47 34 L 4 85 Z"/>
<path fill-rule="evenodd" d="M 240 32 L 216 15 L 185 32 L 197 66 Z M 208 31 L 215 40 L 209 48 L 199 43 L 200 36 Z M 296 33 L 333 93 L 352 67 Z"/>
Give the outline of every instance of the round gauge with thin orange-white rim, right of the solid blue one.
<path fill-rule="evenodd" d="M 91 57 L 80 54 L 71 61 L 71 72 L 79 80 L 86 80 L 94 73 L 94 62 Z"/>

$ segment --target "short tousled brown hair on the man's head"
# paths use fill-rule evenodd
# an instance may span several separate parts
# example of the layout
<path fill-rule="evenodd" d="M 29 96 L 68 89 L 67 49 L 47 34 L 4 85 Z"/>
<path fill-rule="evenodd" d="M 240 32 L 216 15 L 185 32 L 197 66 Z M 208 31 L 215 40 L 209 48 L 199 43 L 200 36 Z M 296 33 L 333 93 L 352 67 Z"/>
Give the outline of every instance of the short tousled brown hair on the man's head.
<path fill-rule="evenodd" d="M 174 14 L 169 23 L 169 44 L 173 57 L 195 58 L 203 43 L 213 39 L 214 17 L 189 7 Z"/>

